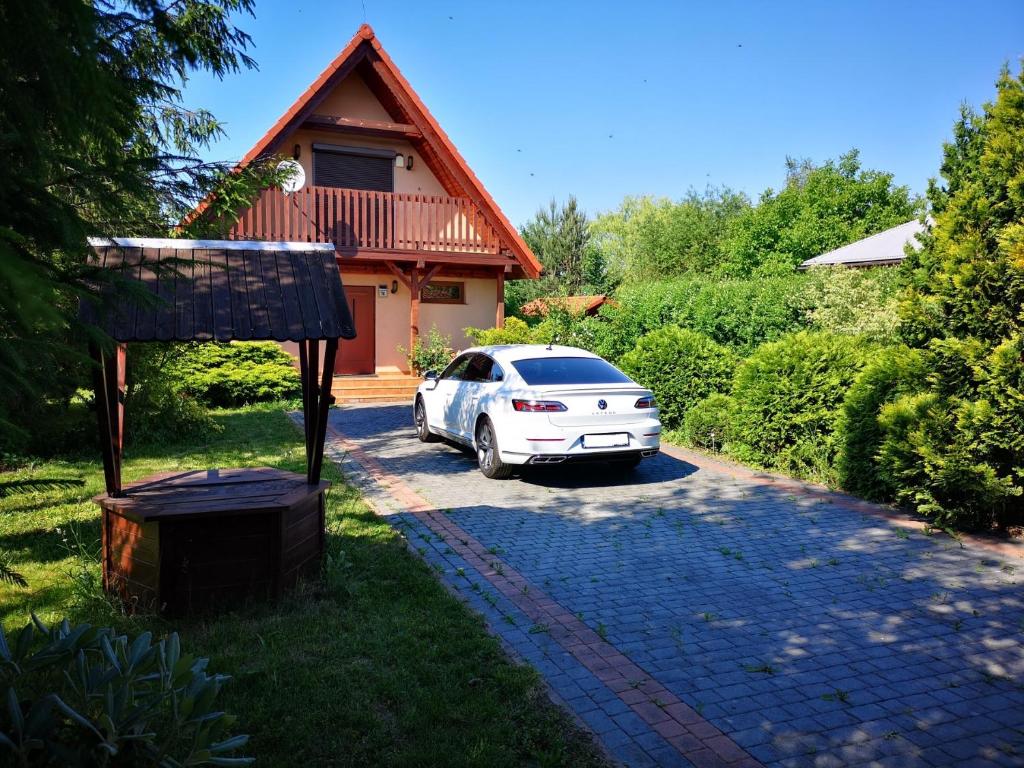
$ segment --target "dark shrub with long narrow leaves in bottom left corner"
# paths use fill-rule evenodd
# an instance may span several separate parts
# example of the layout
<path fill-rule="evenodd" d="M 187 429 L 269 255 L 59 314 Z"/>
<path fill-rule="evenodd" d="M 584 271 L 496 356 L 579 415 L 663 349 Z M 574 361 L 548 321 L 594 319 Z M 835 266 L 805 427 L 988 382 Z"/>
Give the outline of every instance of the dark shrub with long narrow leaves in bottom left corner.
<path fill-rule="evenodd" d="M 20 766 L 247 765 L 248 736 L 216 697 L 227 680 L 157 643 L 38 620 L 8 644 L 0 628 L 0 758 Z"/>

